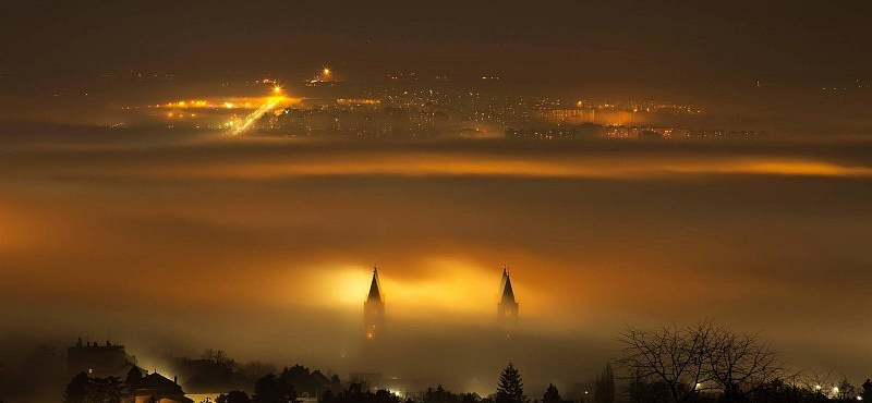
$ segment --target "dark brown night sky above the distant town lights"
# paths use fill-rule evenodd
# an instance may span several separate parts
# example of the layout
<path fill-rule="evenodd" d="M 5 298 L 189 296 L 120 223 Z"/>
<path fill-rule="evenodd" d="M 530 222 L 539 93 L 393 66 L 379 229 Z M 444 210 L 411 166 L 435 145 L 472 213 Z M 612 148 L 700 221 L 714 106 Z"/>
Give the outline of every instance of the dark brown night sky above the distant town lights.
<path fill-rule="evenodd" d="M 852 82 L 862 1 L 7 1 L 0 71 L 398 70 L 704 87 Z"/>

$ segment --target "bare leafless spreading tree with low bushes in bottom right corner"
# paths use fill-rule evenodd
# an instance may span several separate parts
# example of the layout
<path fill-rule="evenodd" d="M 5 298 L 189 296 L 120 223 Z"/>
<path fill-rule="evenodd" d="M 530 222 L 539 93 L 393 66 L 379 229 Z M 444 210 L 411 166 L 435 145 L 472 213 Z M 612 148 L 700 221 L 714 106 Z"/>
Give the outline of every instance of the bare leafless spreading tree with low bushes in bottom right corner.
<path fill-rule="evenodd" d="M 872 400 L 832 374 L 790 371 L 759 334 L 736 333 L 705 320 L 656 330 L 628 327 L 616 359 L 630 403 L 787 403 Z"/>

